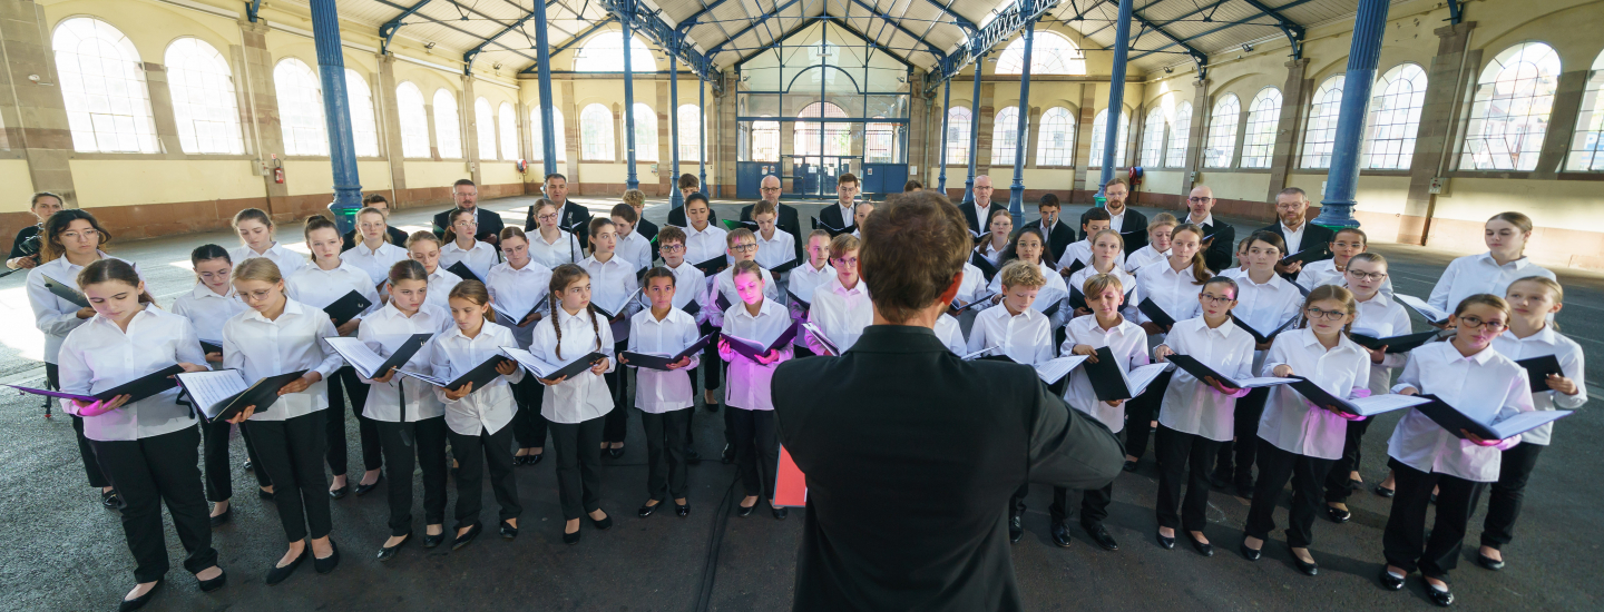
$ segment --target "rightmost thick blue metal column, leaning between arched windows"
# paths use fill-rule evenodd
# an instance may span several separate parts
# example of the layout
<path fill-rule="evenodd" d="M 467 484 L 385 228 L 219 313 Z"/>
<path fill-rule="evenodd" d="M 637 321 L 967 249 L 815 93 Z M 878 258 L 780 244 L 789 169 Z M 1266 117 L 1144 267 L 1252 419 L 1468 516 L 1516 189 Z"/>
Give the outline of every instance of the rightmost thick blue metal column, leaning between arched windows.
<path fill-rule="evenodd" d="M 1354 19 L 1354 45 L 1347 51 L 1343 79 L 1343 106 L 1336 114 L 1336 141 L 1331 144 L 1331 173 L 1325 179 L 1320 216 L 1327 227 L 1359 227 L 1354 219 L 1354 192 L 1359 191 L 1359 146 L 1365 130 L 1365 106 L 1376 82 L 1381 35 L 1387 30 L 1387 0 L 1360 0 Z"/>

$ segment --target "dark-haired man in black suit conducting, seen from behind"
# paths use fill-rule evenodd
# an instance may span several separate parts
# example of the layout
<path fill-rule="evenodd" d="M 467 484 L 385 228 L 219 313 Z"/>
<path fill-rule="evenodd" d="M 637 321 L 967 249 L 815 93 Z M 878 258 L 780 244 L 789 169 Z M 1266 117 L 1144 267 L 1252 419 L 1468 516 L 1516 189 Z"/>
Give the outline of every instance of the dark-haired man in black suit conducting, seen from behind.
<path fill-rule="evenodd" d="M 840 357 L 780 364 L 778 436 L 807 474 L 796 610 L 1019 610 L 1009 495 L 1104 487 L 1124 458 L 1025 365 L 962 360 L 932 327 L 972 240 L 937 192 L 869 215 L 874 325 Z"/>

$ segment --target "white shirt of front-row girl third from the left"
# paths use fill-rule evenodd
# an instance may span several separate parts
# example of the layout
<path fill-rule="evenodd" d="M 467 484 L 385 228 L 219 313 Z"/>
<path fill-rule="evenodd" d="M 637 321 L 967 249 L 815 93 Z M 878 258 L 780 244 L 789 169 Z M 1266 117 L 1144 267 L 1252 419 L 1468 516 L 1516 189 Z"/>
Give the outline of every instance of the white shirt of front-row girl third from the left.
<path fill-rule="evenodd" d="M 369 349 L 377 352 L 380 357 L 390 359 L 401 344 L 411 338 L 414 333 L 428 333 L 430 336 L 438 336 L 451 328 L 457 327 L 451 320 L 451 312 L 423 303 L 412 312 L 411 317 L 401 314 L 395 303 L 385 304 L 379 312 L 371 314 L 363 319 L 363 325 L 356 328 L 356 340 L 367 344 Z M 435 343 L 423 343 L 412 359 L 401 364 L 401 370 L 430 373 L 430 354 L 435 349 Z M 480 364 L 470 364 L 475 367 Z M 383 372 L 379 372 L 383 375 Z M 399 389 L 406 389 L 406 421 L 422 421 L 425 418 L 435 418 L 444 413 L 444 405 L 439 402 L 439 396 L 435 394 L 435 386 L 417 378 L 407 378 L 401 373 L 390 376 L 388 383 L 374 383 L 369 378 L 363 378 L 367 383 L 367 404 L 363 405 L 363 417 L 372 418 L 375 421 L 399 423 L 401 421 L 401 396 Z"/>

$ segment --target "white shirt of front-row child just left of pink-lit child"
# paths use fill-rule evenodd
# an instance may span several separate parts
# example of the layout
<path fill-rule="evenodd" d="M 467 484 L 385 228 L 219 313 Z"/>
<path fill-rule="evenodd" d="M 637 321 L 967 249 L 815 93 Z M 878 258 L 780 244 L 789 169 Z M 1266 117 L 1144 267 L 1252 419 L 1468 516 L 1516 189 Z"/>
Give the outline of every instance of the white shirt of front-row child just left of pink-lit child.
<path fill-rule="evenodd" d="M 691 268 L 691 266 L 682 266 Z M 691 268 L 696 269 L 696 268 Z M 629 349 L 632 352 L 650 352 L 659 356 L 675 356 L 687 346 L 696 343 L 696 319 L 678 308 L 670 308 L 661 320 L 650 309 L 635 312 L 629 320 Z M 664 412 L 690 409 L 696 397 L 690 370 L 701 364 L 698 356 L 691 356 L 691 364 L 678 370 L 653 370 L 650 367 L 635 368 L 635 407 L 640 412 L 661 415 Z"/>

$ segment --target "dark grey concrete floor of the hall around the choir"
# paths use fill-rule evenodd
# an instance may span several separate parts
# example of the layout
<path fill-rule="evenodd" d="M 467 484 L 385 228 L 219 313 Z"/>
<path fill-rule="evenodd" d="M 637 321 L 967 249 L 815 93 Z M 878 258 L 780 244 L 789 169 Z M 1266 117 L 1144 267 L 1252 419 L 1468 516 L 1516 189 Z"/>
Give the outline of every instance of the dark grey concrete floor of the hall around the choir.
<path fill-rule="evenodd" d="M 533 199 L 486 202 L 507 211 L 508 223 L 521 223 Z M 603 211 L 613 202 L 584 200 Z M 735 203 L 715 205 L 720 218 L 733 218 Z M 818 205 L 802 205 L 804 216 Z M 1065 211 L 1076 218 L 1079 207 Z M 433 210 L 409 210 L 393 223 L 422 229 Z M 646 216 L 662 223 L 667 203 L 653 202 Z M 1031 210 L 1030 215 L 1035 215 Z M 1229 219 L 1238 232 L 1259 223 Z M 807 221 L 804 221 L 804 227 Z M 115 227 L 112 227 L 115 232 Z M 300 227 L 284 227 L 284 242 L 300 242 Z M 159 303 L 170 304 L 189 290 L 192 274 L 188 252 L 204 242 L 225 247 L 237 244 L 228 232 L 183 236 L 112 245 L 117 256 L 140 263 Z M 1400 293 L 1424 296 L 1455 255 L 1440 250 L 1375 245 L 1392 261 L 1392 280 Z M 0 279 L 0 383 L 38 383 L 42 336 L 29 324 L 32 314 L 22 288 L 22 274 Z M 1604 343 L 1601 296 L 1604 276 L 1562 271 L 1567 303 L 1559 314 L 1567 335 L 1591 352 Z M 1416 325 L 1420 325 L 1416 322 Z M 1588 378 L 1604 381 L 1599 360 Z M 1590 393 L 1598 397 L 1598 388 Z M 38 401 L 10 391 L 0 393 L 0 516 L 10 529 L 0 533 L 0 601 L 13 610 L 93 610 L 114 609 L 132 586 L 133 561 L 128 556 L 117 514 L 101 509 L 88 489 L 72 442 L 71 421 L 63 415 L 42 418 Z M 1489 572 L 1472 562 L 1480 532 L 1479 511 L 1472 519 L 1466 556 L 1453 574 L 1453 590 L 1466 609 L 1601 609 L 1604 585 L 1593 566 L 1604 537 L 1604 519 L 1596 500 L 1604 498 L 1604 453 L 1588 439 L 1604 436 L 1604 417 L 1590 402 L 1583 413 L 1559 426 L 1554 445 L 1543 453 L 1527 490 L 1525 513 L 1517 538 L 1506 546 L 1508 569 Z M 1386 471 L 1386 437 L 1397 415 L 1381 418 L 1367 436 L 1363 477 L 1367 490 Z M 696 445 L 704 457 L 722 447 L 722 418 L 698 409 Z M 351 420 L 353 465 L 359 463 L 356 428 Z M 181 569 L 183 551 L 168 525 L 167 543 L 173 570 L 172 585 L 151 609 L 196 610 L 284 610 L 284 609 L 520 609 L 533 610 L 783 610 L 789 607 L 794 580 L 796 545 L 802 511 L 778 522 L 767 513 L 733 517 L 731 487 L 735 469 L 717 460 L 691 468 L 691 516 L 658 514 L 638 519 L 634 509 L 646 498 L 645 445 L 638 418 L 632 418 L 627 453 L 608 460 L 603 508 L 616 516 L 616 527 L 597 532 L 584 527 L 584 542 L 561 545 L 557 484 L 552 461 L 520 468 L 518 485 L 525 505 L 523 535 L 502 542 L 486 533 L 472 546 L 451 553 L 449 546 L 425 551 L 412 543 L 390 564 L 372 561 L 388 533 L 382 492 L 334 501 L 334 538 L 343 561 L 329 575 L 303 567 L 282 585 L 268 588 L 263 575 L 282 554 L 282 530 L 271 503 L 249 495 L 253 482 L 237 466 L 242 445 L 234 444 L 236 495 L 233 522 L 213 530 L 213 546 L 229 572 L 228 588 L 202 594 Z M 1046 514 L 1047 487 L 1035 487 L 1025 516 L 1025 540 L 1014 546 L 1025 604 L 1033 610 L 1054 609 L 1428 609 L 1431 602 L 1418 578 L 1404 593 L 1376 585 L 1381 569 L 1381 529 L 1389 501 L 1362 492 L 1354 497 L 1354 519 L 1343 525 L 1318 521 L 1312 551 L 1322 566 L 1320 577 L 1296 572 L 1285 538 L 1272 535 L 1266 556 L 1248 562 L 1235 554 L 1248 501 L 1224 492 L 1211 497 L 1209 537 L 1219 554 L 1205 559 L 1185 545 L 1165 551 L 1152 540 L 1156 471 L 1152 455 L 1134 474 L 1121 474 L 1108 529 L 1121 550 L 1105 553 L 1075 529 L 1075 545 L 1052 546 Z M 422 487 L 415 487 L 422 497 Z M 452 489 L 451 498 L 456 498 Z M 419 506 L 420 506 L 419 500 Z M 484 492 L 484 516 L 494 522 L 494 498 Z M 451 508 L 448 508 L 448 513 Z M 1278 513 L 1278 521 L 1286 519 Z M 422 516 L 417 516 L 422 529 Z M 422 533 L 422 532 L 419 532 Z"/>

